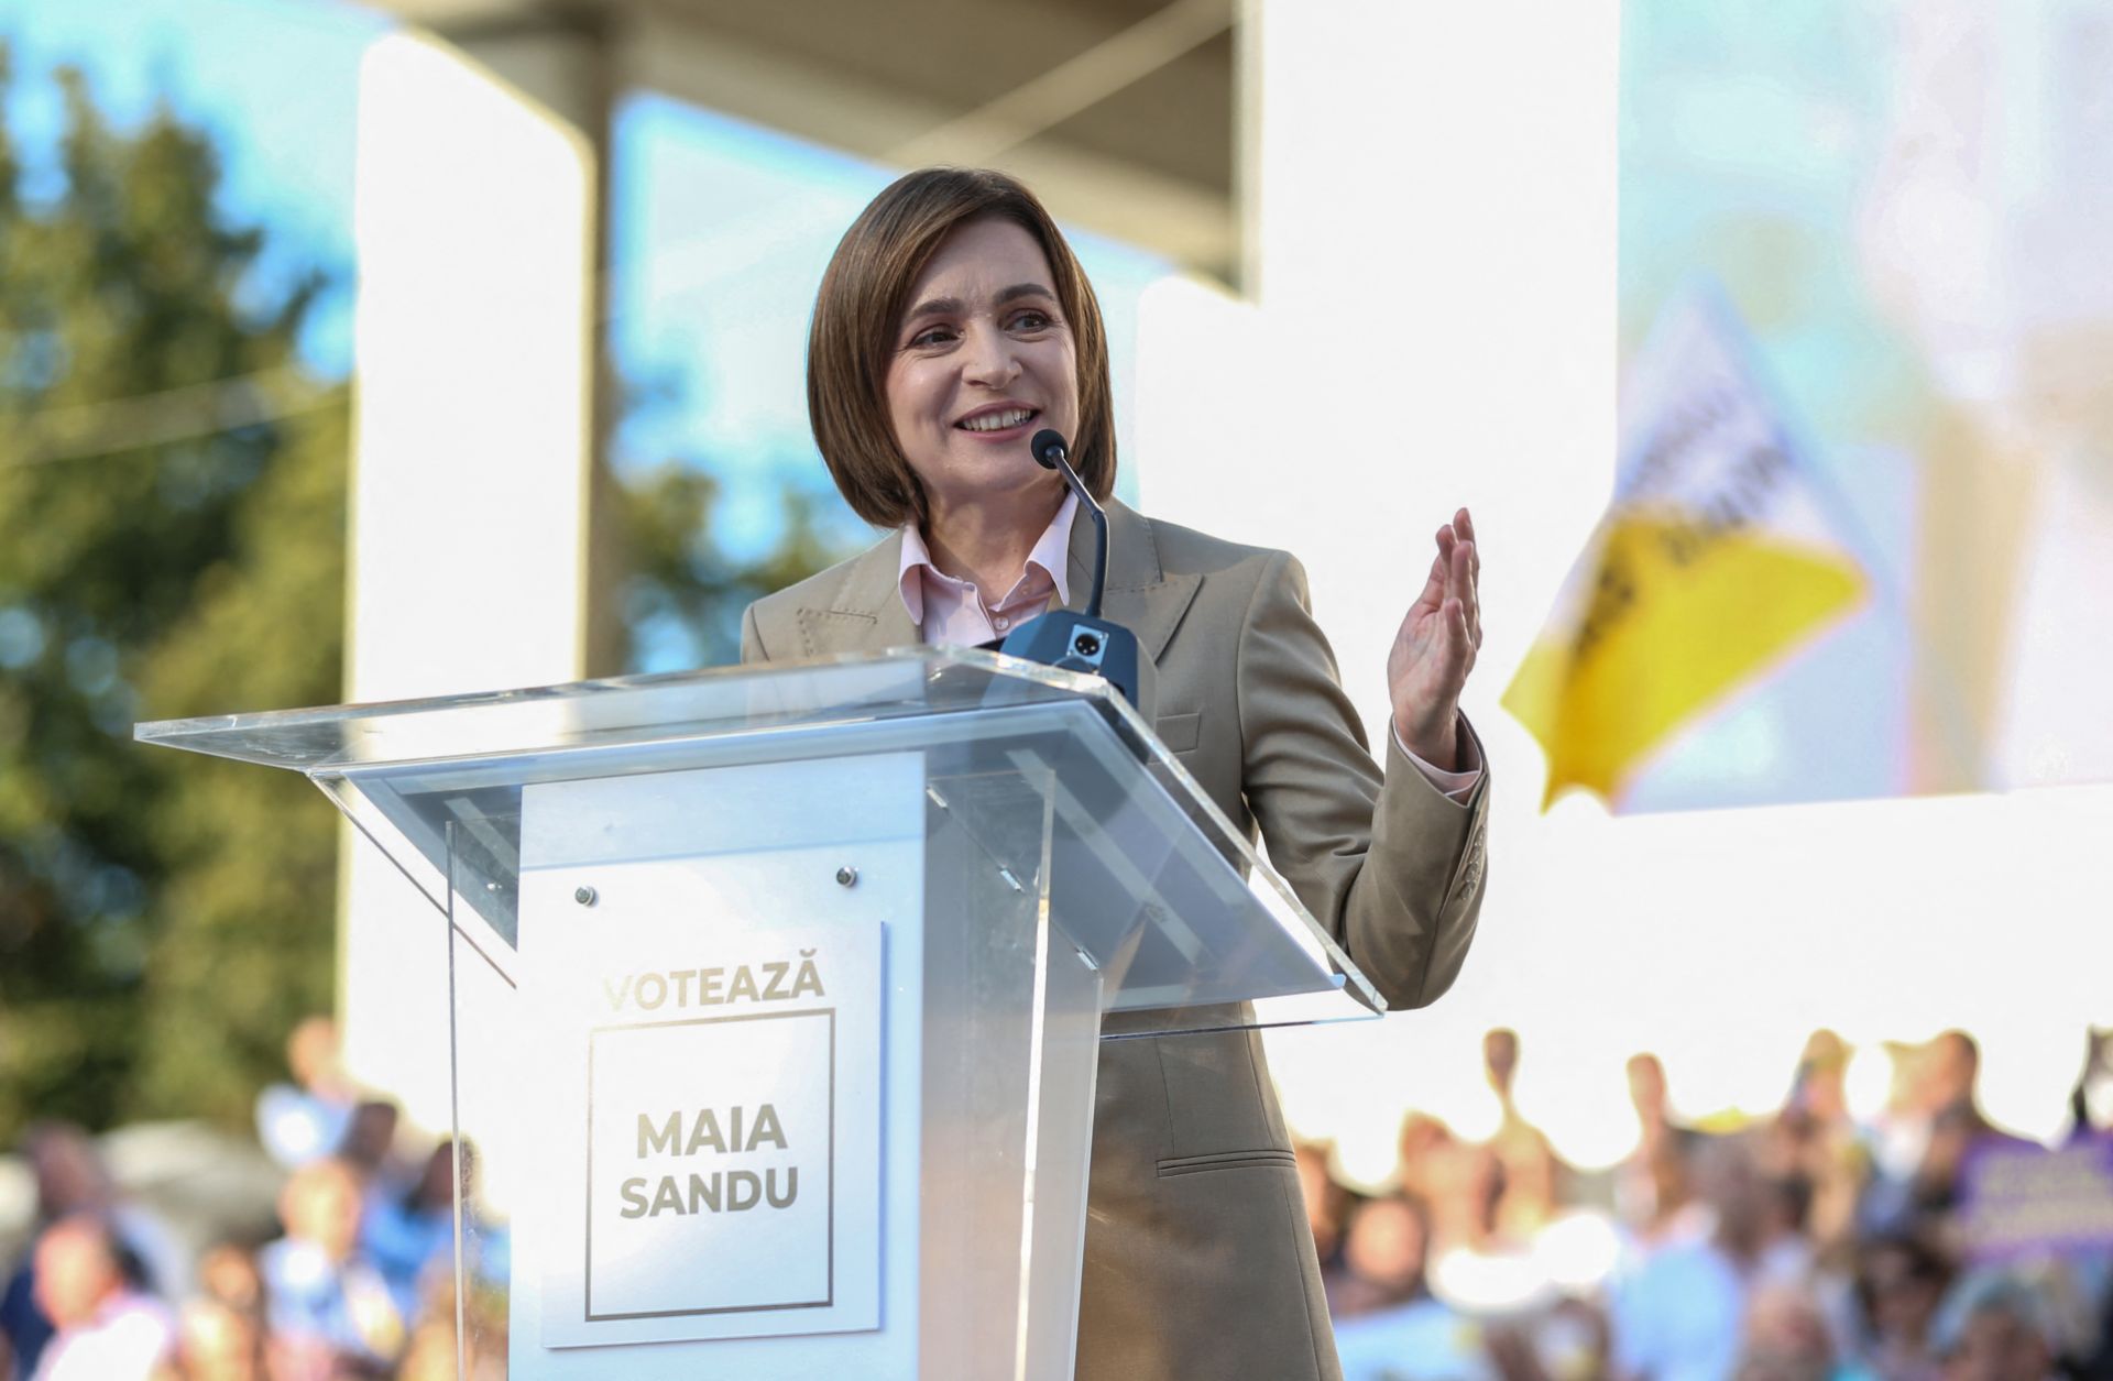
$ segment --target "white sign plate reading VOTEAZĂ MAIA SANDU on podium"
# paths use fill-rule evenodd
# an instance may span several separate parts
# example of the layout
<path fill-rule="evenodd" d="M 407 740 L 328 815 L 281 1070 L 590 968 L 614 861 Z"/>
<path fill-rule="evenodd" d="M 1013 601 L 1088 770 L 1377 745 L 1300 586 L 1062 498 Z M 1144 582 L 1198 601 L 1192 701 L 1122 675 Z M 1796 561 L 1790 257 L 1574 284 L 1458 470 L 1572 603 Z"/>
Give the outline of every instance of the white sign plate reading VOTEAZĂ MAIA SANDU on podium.
<path fill-rule="evenodd" d="M 875 1328 L 881 919 L 750 912 L 708 859 L 592 872 L 592 908 L 522 878 L 522 990 L 562 1014 L 535 1180 L 581 1185 L 530 1202 L 543 1341 Z"/>

